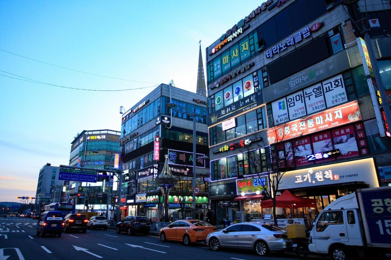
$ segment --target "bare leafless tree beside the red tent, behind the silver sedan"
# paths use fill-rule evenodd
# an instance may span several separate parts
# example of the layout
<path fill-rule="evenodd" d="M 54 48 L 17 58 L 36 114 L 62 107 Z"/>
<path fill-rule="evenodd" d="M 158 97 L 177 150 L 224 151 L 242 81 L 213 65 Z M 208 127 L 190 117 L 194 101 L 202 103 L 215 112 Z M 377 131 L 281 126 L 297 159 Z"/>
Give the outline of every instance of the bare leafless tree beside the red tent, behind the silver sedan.
<path fill-rule="evenodd" d="M 260 138 L 259 132 L 253 135 L 255 139 Z M 300 137 L 301 133 L 295 137 Z M 286 142 L 289 135 L 288 124 L 272 126 L 267 129 L 267 141 L 257 142 L 258 150 L 265 149 L 265 154 L 251 153 L 249 145 L 241 148 L 244 153 L 244 158 L 248 160 L 249 166 L 256 169 L 256 176 L 258 177 L 258 185 L 263 189 L 262 194 L 271 198 L 273 201 L 273 219 L 274 224 L 277 225 L 276 217 L 276 193 L 280 188 L 280 183 L 283 175 L 294 167 L 293 161 L 293 145 L 292 142 Z M 256 149 L 256 148 L 255 148 Z M 266 157 L 266 160 L 260 160 L 260 157 Z M 266 161 L 268 182 L 265 181 L 265 172 L 258 171 L 260 163 Z M 270 187 L 270 189 L 269 189 Z"/>

